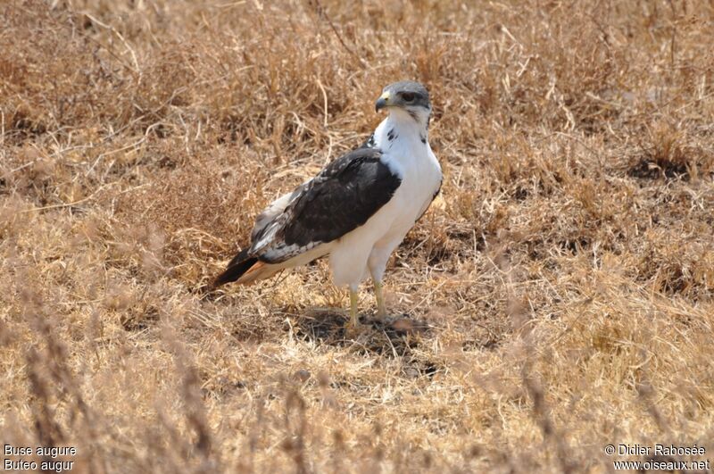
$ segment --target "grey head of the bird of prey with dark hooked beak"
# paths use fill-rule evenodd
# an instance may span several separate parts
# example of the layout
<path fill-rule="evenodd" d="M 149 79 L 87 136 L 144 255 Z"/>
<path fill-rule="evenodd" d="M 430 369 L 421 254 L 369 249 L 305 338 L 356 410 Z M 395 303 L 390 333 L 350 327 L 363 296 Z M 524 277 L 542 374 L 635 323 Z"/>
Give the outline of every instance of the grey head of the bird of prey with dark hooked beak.
<path fill-rule="evenodd" d="M 429 91 L 413 80 L 394 82 L 382 89 L 374 108 L 376 112 L 387 109 L 390 114 L 409 116 L 426 127 L 431 115 Z"/>

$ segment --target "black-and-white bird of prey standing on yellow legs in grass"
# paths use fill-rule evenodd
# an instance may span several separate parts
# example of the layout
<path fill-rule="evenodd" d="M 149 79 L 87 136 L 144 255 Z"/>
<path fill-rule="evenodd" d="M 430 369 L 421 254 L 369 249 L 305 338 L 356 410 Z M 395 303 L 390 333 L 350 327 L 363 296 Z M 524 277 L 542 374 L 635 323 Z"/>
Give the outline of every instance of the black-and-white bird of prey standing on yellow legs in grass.
<path fill-rule="evenodd" d="M 327 256 L 333 283 L 349 289 L 347 328 L 361 327 L 358 289 L 368 274 L 376 319 L 386 319 L 386 263 L 439 194 L 443 175 L 428 141 L 428 89 L 412 80 L 389 84 L 375 103 L 376 113 L 383 110 L 386 118 L 361 146 L 257 216 L 250 245 L 228 262 L 212 289 L 269 279 Z"/>

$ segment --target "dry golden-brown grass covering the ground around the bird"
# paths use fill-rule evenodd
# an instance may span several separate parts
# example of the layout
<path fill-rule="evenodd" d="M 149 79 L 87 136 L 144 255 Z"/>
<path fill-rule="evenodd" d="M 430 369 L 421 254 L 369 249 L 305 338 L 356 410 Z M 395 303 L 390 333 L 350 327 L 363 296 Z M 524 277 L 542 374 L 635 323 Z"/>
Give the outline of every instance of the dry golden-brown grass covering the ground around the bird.
<path fill-rule="evenodd" d="M 704 0 L 0 4 L 0 441 L 79 472 L 714 452 L 712 38 Z M 409 319 L 344 340 L 324 262 L 195 295 L 404 78 L 444 168 L 387 270 Z"/>

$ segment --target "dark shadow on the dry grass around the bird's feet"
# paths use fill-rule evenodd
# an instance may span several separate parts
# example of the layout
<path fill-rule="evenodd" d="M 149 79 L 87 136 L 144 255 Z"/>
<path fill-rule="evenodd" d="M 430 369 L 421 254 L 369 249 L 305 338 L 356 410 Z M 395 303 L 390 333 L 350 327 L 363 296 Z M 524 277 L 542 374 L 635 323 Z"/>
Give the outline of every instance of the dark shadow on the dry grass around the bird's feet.
<path fill-rule="evenodd" d="M 369 353 L 387 356 L 403 356 L 430 331 L 425 320 L 408 314 L 387 316 L 378 320 L 372 315 L 361 314 L 361 328 L 351 332 L 349 316 L 331 308 L 313 308 L 294 313 L 291 325 L 296 337 L 321 344 L 352 345 Z"/>

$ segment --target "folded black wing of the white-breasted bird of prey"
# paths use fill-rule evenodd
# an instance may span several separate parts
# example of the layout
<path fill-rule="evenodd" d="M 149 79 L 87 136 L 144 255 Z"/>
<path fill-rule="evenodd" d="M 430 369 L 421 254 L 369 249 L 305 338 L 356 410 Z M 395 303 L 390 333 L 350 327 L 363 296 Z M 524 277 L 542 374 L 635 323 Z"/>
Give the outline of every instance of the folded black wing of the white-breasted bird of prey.
<path fill-rule="evenodd" d="M 329 163 L 253 236 L 248 253 L 263 262 L 285 262 L 360 227 L 402 183 L 381 156 L 377 148 L 364 147 Z"/>

